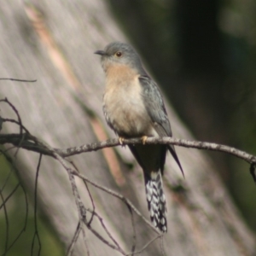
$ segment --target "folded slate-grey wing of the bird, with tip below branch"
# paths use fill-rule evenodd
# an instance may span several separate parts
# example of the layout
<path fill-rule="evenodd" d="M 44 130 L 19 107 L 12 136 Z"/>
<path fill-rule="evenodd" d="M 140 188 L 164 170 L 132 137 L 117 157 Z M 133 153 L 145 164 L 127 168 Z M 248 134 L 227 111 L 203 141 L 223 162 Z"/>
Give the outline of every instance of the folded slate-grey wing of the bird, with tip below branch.
<path fill-rule="evenodd" d="M 152 124 L 154 125 L 155 131 L 160 137 L 172 137 L 172 130 L 166 113 L 166 107 L 157 84 L 155 84 L 148 76 L 140 76 L 139 80 L 143 87 L 143 102 Z M 167 148 L 183 173 L 183 167 L 177 158 L 175 148 L 172 145 L 167 145 Z"/>

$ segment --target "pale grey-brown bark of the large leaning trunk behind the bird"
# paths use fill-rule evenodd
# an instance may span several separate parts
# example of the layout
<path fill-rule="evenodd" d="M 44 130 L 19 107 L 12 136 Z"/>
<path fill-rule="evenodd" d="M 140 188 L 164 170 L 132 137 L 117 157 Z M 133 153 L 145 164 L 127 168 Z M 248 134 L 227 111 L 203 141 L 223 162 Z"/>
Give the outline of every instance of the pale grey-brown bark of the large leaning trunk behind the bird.
<path fill-rule="evenodd" d="M 37 79 L 36 83 L 0 81 L 1 98 L 7 97 L 15 105 L 32 135 L 54 148 L 104 140 L 106 133 L 114 137 L 102 115 L 104 74 L 93 52 L 111 41 L 128 39 L 106 1 L 3 1 L 0 34 L 0 77 Z M 168 102 L 166 107 L 174 137 L 192 138 Z M 15 118 L 6 104 L 1 105 L 1 115 Z M 3 125 L 2 132 L 18 132 L 18 128 Z M 256 255 L 255 237 L 234 207 L 209 157 L 196 149 L 176 148 L 185 180 L 169 155 L 164 179 L 168 206 L 168 233 L 163 244 L 166 255 Z M 149 219 L 143 172 L 128 148 L 79 154 L 70 160 L 94 182 L 125 195 Z M 20 150 L 16 157 L 31 193 L 37 163 L 38 154 L 26 150 Z M 241 172 L 248 175 L 247 170 Z M 79 178 L 76 182 L 84 205 L 90 207 L 84 183 Z M 183 183 L 185 192 L 173 189 L 178 183 Z M 90 186 L 90 190 L 96 211 L 119 245 L 131 252 L 131 215 L 127 207 L 99 189 Z M 68 247 L 78 224 L 78 212 L 67 172 L 47 156 L 40 169 L 38 201 Z M 141 218 L 135 217 L 135 224 L 139 250 L 155 233 Z M 97 221 L 92 225 L 101 230 Z M 120 255 L 90 230 L 86 230 L 86 239 L 90 255 Z M 162 250 L 157 240 L 140 255 L 162 255 Z M 80 238 L 74 254 L 86 255 Z"/>

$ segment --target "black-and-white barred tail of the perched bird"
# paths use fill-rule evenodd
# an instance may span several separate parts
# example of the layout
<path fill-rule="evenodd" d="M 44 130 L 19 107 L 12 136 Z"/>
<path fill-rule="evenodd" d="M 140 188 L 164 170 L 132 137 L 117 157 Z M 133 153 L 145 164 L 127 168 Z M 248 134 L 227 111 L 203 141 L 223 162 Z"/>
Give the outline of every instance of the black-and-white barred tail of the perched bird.
<path fill-rule="evenodd" d="M 162 232 L 167 232 L 166 196 L 163 190 L 161 172 L 145 172 L 145 186 L 151 222 Z"/>

